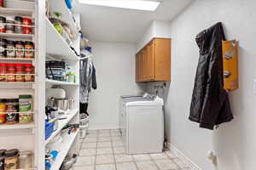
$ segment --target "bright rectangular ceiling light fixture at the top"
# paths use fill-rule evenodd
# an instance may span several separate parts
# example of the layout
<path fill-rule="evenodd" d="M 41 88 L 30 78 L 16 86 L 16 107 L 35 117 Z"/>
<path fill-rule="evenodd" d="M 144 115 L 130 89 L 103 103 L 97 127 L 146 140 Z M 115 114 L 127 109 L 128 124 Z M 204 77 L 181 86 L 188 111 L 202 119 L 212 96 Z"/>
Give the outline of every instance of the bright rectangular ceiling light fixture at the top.
<path fill-rule="evenodd" d="M 154 11 L 156 8 L 158 8 L 160 4 L 160 2 L 145 0 L 79 0 L 79 3 L 114 8 L 130 8 L 146 11 Z"/>

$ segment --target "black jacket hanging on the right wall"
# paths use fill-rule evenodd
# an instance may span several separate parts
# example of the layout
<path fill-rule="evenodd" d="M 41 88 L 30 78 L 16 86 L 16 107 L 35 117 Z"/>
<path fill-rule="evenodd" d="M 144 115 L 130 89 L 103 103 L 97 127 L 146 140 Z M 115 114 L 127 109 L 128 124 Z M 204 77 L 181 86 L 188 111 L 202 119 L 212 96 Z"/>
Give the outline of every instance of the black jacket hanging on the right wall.
<path fill-rule="evenodd" d="M 221 23 L 201 31 L 196 37 L 200 58 L 189 120 L 199 122 L 200 127 L 211 130 L 215 125 L 233 119 L 230 100 L 223 86 L 222 40 L 224 39 Z"/>

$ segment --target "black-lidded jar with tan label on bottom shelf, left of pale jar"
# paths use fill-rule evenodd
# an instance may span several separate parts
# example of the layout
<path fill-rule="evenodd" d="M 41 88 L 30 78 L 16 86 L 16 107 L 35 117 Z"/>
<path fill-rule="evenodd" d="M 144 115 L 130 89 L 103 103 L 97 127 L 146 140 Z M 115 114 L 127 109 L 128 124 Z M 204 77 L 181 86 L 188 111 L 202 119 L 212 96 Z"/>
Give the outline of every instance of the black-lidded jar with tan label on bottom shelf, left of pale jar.
<path fill-rule="evenodd" d="M 19 168 L 19 150 L 6 150 L 4 152 L 4 170 Z"/>

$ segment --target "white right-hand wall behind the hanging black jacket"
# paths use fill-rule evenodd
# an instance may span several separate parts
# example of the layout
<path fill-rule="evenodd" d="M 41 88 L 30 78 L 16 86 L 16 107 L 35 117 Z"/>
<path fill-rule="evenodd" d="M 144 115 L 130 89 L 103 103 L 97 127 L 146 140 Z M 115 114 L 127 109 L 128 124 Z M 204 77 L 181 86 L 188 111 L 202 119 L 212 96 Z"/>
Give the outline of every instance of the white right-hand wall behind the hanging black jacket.
<path fill-rule="evenodd" d="M 256 2 L 254 0 L 195 0 L 172 21 L 172 82 L 166 89 L 167 133 L 178 150 L 202 170 L 213 170 L 207 151 L 218 156 L 218 170 L 256 168 Z M 189 122 L 189 105 L 199 50 L 195 36 L 218 21 L 224 24 L 227 39 L 240 41 L 240 88 L 230 93 L 235 120 L 213 132 Z"/>

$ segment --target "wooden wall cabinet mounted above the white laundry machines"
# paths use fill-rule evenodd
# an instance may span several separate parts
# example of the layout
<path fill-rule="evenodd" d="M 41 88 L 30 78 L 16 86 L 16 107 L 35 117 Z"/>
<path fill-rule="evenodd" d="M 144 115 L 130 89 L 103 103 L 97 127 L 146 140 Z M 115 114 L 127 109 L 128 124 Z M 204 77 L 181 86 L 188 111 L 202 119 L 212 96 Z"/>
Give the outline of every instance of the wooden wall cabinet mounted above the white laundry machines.
<path fill-rule="evenodd" d="M 136 54 L 136 82 L 171 81 L 171 39 L 154 38 Z"/>

